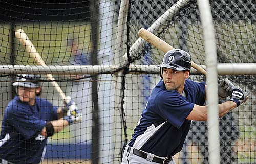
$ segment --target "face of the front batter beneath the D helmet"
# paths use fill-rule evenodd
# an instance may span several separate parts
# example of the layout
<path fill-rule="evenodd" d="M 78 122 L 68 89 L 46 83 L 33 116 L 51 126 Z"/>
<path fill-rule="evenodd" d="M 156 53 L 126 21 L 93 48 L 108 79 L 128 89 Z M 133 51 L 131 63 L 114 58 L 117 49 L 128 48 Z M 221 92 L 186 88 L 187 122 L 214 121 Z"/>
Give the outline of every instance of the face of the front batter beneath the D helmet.
<path fill-rule="evenodd" d="M 185 79 L 188 76 L 189 71 L 175 71 L 169 68 L 163 68 L 163 81 L 167 90 L 177 90 L 181 94 Z"/>

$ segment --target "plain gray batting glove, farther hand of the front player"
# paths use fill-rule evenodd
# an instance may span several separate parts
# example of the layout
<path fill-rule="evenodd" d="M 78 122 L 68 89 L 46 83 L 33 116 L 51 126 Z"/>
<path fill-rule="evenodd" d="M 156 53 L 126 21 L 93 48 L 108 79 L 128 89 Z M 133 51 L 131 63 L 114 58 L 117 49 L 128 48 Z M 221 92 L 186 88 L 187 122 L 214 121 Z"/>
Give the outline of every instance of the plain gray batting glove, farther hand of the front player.
<path fill-rule="evenodd" d="M 218 94 L 222 98 L 226 98 L 230 95 L 231 90 L 234 88 L 234 85 L 227 78 L 222 79 L 218 85 Z"/>

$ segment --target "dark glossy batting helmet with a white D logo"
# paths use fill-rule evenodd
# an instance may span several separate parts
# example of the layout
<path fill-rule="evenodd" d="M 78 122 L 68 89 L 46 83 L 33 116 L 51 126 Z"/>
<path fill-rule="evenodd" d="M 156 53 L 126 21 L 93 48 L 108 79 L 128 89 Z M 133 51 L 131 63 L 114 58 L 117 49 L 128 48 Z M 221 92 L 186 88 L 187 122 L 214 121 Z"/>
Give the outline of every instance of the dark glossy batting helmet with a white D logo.
<path fill-rule="evenodd" d="M 162 77 L 162 68 L 170 68 L 176 71 L 185 71 L 191 68 L 191 56 L 180 49 L 169 50 L 163 57 L 160 67 L 160 76 Z"/>

